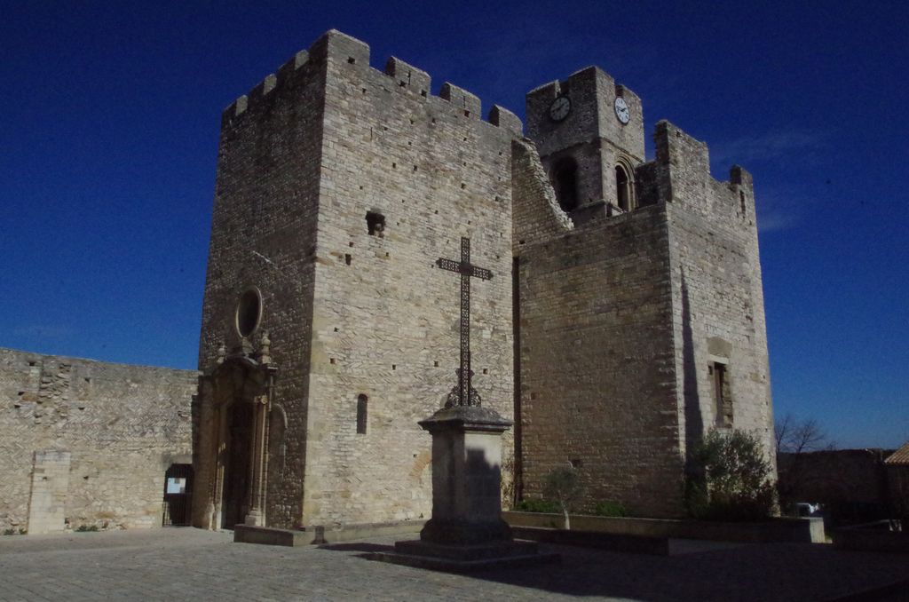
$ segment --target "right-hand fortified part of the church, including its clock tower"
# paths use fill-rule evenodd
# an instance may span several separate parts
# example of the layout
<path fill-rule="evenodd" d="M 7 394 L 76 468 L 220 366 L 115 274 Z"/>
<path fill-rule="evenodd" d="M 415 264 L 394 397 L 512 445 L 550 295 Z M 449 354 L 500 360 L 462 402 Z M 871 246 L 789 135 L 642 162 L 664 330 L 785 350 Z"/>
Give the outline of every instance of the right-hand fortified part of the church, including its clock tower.
<path fill-rule="evenodd" d="M 640 100 L 595 67 L 534 89 L 526 118 L 545 173 L 516 149 L 522 493 L 569 463 L 588 507 L 677 516 L 707 429 L 756 432 L 772 459 L 751 176 L 717 182 L 666 122 L 644 163 Z"/>

